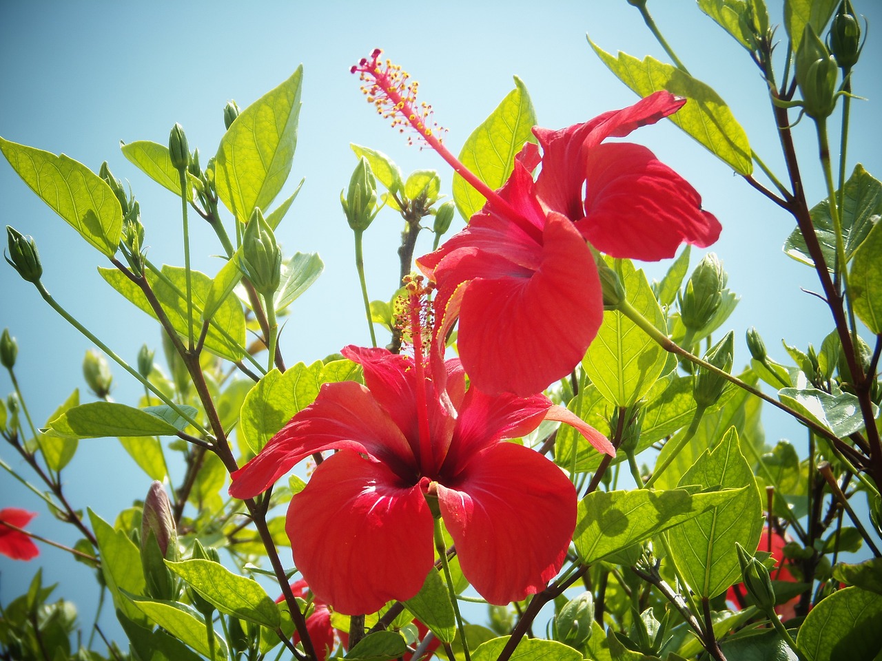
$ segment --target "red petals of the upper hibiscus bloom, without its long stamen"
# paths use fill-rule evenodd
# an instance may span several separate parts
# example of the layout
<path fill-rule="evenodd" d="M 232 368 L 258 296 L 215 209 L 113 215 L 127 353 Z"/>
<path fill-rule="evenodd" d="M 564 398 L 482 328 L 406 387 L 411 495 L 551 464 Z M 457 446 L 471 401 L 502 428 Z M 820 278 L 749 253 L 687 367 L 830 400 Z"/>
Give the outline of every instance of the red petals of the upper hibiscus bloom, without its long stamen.
<path fill-rule="evenodd" d="M 720 223 L 701 210 L 688 182 L 646 147 L 603 142 L 685 102 L 657 92 L 563 130 L 535 127 L 542 157 L 527 144 L 496 198 L 417 260 L 437 284 L 439 318 L 445 315 L 438 341 L 459 317 L 460 358 L 476 388 L 541 392 L 585 355 L 603 319 L 586 240 L 610 256 L 641 260 L 674 256 L 684 241 L 716 241 Z"/>

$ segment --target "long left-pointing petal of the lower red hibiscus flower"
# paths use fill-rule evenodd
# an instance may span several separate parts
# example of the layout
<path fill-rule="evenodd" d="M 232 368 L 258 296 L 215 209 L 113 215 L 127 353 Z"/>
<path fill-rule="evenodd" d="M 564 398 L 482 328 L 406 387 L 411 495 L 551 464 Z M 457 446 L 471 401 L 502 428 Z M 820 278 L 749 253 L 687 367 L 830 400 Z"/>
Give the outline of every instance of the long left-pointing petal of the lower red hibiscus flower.
<path fill-rule="evenodd" d="M 370 391 L 359 383 L 325 383 L 316 401 L 297 413 L 257 457 L 232 474 L 229 494 L 253 498 L 303 458 L 325 449 L 353 449 L 388 464 L 402 476 L 416 475 L 407 439 Z"/>

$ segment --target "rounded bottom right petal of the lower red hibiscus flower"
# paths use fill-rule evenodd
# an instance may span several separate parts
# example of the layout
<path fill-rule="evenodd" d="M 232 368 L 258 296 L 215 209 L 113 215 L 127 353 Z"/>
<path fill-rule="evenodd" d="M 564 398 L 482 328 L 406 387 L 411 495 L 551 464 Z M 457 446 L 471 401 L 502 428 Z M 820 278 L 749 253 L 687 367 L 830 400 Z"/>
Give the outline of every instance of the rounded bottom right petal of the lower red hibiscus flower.
<path fill-rule="evenodd" d="M 437 492 L 462 573 L 490 604 L 526 598 L 557 575 L 576 525 L 576 490 L 548 459 L 500 442 Z"/>

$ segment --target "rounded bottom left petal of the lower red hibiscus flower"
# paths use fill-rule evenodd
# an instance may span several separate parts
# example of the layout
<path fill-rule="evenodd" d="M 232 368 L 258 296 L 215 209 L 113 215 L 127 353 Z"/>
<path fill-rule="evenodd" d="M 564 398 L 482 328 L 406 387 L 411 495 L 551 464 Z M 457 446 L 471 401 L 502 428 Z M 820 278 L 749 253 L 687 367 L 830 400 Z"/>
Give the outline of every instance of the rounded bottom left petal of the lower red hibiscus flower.
<path fill-rule="evenodd" d="M 357 615 L 420 591 L 435 558 L 427 484 L 402 483 L 348 449 L 318 466 L 291 500 L 285 525 L 295 565 L 317 598 Z"/>

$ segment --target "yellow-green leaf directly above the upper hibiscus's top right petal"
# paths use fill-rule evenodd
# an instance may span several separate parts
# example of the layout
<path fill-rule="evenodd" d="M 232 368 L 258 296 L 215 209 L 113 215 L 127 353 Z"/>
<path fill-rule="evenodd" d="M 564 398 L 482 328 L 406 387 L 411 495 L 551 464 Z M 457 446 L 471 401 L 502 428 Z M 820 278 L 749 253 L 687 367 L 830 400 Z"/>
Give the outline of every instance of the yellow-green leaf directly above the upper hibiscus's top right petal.
<path fill-rule="evenodd" d="M 668 90 L 689 99 L 669 120 L 704 145 L 718 159 L 731 166 L 739 175 L 753 172 L 751 145 L 747 134 L 736 122 L 726 102 L 709 86 L 692 78 L 671 64 L 646 56 L 643 61 L 619 53 L 609 55 L 588 40 L 594 53 L 609 67 L 609 71 L 642 97 L 659 90 Z"/>

